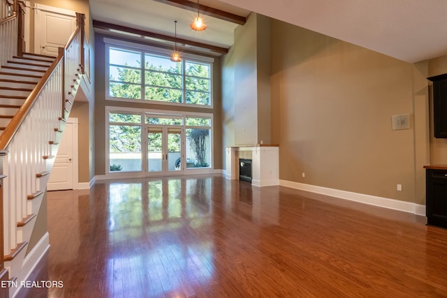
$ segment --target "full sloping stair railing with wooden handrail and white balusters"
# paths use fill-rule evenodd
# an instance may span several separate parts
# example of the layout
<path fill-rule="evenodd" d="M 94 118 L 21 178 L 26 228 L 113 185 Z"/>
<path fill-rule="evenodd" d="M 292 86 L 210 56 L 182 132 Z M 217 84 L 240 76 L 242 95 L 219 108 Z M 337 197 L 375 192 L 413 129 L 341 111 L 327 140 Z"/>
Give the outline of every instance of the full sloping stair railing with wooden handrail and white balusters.
<path fill-rule="evenodd" d="M 0 174 L 6 176 L 3 178 L 3 253 L 7 256 L 5 267 L 10 277 L 17 277 L 19 281 L 25 277 L 20 271 L 24 248 L 36 221 L 24 225 L 27 232 L 21 225 L 26 218 L 38 214 L 65 119 L 82 77 L 83 21 L 84 15 L 78 14 L 78 27 L 66 47 L 59 50 L 59 57 L 0 135 L 0 152 L 6 153 L 0 161 Z"/>

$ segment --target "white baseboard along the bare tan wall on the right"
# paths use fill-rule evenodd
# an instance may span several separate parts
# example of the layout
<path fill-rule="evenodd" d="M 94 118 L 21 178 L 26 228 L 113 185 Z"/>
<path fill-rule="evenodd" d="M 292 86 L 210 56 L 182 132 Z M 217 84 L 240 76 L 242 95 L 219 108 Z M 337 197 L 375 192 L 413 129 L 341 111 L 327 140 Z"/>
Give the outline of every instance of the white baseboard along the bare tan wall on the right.
<path fill-rule="evenodd" d="M 425 206 L 421 204 L 404 202 L 390 198 L 376 197 L 374 195 L 365 195 L 363 193 L 353 193 L 351 191 L 341 191 L 333 188 L 326 188 L 322 186 L 315 186 L 310 184 L 302 184 L 294 181 L 279 180 L 280 186 L 300 189 L 302 191 L 310 191 L 312 193 L 321 193 L 323 195 L 330 195 L 331 197 L 340 198 L 344 200 L 351 200 L 364 204 L 370 204 L 377 207 L 394 209 L 412 214 L 425 216 Z"/>

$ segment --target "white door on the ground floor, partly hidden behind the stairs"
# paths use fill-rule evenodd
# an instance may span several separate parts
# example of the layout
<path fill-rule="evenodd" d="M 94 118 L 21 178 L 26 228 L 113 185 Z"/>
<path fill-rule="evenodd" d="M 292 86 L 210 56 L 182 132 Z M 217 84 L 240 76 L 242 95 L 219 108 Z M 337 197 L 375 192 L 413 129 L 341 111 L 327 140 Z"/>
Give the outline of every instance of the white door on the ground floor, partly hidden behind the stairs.
<path fill-rule="evenodd" d="M 73 123 L 67 123 L 65 126 L 48 180 L 48 191 L 73 189 L 73 125 Z"/>

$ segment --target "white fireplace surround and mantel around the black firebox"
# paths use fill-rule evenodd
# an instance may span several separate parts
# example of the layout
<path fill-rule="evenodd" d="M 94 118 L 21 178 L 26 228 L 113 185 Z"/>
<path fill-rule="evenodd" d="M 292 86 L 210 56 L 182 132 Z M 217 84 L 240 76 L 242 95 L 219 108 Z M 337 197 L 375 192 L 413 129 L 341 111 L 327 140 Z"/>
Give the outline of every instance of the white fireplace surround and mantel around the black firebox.
<path fill-rule="evenodd" d="M 251 151 L 251 185 L 279 185 L 279 146 L 253 144 L 226 147 L 226 179 L 239 179 L 240 151 Z"/>

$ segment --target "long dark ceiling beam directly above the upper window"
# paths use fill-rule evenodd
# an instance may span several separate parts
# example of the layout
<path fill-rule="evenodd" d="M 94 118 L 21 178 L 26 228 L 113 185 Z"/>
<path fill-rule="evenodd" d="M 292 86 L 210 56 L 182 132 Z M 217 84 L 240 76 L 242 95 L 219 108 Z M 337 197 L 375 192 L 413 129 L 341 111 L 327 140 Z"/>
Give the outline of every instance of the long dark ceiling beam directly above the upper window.
<path fill-rule="evenodd" d="M 173 43 L 182 43 L 184 45 L 192 45 L 194 47 L 200 47 L 202 49 L 206 49 L 206 50 L 210 50 L 212 52 L 216 52 L 219 54 L 227 54 L 228 53 L 228 49 L 225 47 L 217 47 L 216 45 L 207 45 L 206 43 L 198 43 L 196 41 L 192 41 L 192 40 L 187 40 L 187 39 L 183 39 L 183 38 L 175 38 L 173 36 L 168 36 L 168 35 L 164 35 L 164 34 L 160 34 L 160 33 L 154 33 L 154 32 L 150 32 L 150 31 L 145 31 L 145 30 L 140 30 L 140 29 L 135 29 L 135 28 L 130 28 L 130 27 L 124 27 L 124 26 L 120 26 L 117 24 L 111 24 L 111 23 L 106 23 L 106 22 L 101 22 L 101 21 L 97 21 L 97 20 L 93 20 L 93 27 L 96 29 L 103 29 L 106 31 L 121 31 L 123 33 L 132 33 L 132 34 L 137 34 L 139 36 L 141 36 L 142 38 L 144 37 L 150 37 L 150 38 L 156 38 L 159 40 L 168 40 L 170 42 Z"/>

